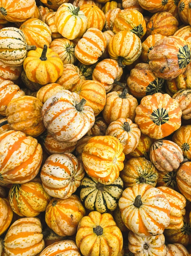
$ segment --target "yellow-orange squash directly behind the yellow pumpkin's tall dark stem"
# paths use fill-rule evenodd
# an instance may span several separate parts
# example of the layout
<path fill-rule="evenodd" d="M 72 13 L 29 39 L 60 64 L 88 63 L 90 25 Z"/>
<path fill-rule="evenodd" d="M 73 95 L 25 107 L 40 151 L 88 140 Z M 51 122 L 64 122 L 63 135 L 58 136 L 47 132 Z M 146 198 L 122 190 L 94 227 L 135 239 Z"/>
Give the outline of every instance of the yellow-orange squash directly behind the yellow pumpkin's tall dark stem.
<path fill-rule="evenodd" d="M 50 12 L 52 14 L 53 12 Z M 35 45 L 36 47 L 43 48 L 44 44 L 49 45 L 52 41 L 52 32 L 45 24 L 39 19 L 28 19 L 21 26 L 20 30 L 24 33 L 28 45 Z"/>

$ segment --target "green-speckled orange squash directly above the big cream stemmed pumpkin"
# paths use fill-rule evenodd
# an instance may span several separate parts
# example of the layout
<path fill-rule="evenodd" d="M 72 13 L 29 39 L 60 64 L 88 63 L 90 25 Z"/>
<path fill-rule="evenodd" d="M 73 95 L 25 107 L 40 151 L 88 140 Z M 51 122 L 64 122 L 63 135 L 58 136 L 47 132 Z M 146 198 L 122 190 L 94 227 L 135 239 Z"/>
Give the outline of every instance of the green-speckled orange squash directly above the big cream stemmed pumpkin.
<path fill-rule="evenodd" d="M 159 177 L 154 165 L 144 157 L 129 159 L 120 173 L 124 187 L 132 187 L 135 184 L 148 184 L 153 187 L 157 184 Z"/>

